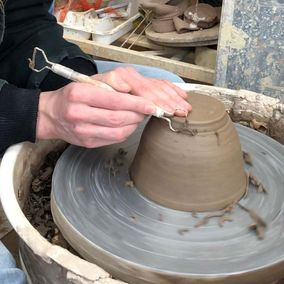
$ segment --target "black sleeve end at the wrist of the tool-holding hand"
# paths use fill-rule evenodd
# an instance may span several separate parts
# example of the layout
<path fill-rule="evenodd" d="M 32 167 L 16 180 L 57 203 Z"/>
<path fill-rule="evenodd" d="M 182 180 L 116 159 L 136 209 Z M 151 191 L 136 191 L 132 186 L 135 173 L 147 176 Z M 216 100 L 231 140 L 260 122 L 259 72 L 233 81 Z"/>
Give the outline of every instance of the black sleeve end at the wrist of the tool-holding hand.
<path fill-rule="evenodd" d="M 10 146 L 35 141 L 40 90 L 5 84 L 0 91 L 0 156 Z"/>

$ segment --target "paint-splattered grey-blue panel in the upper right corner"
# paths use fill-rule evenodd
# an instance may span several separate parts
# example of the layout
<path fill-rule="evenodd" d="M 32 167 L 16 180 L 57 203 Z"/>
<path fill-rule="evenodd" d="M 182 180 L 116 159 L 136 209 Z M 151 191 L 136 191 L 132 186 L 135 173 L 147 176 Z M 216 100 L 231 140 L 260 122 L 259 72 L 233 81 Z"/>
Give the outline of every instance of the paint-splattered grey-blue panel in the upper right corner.
<path fill-rule="evenodd" d="M 224 0 L 216 86 L 284 101 L 284 0 Z"/>

